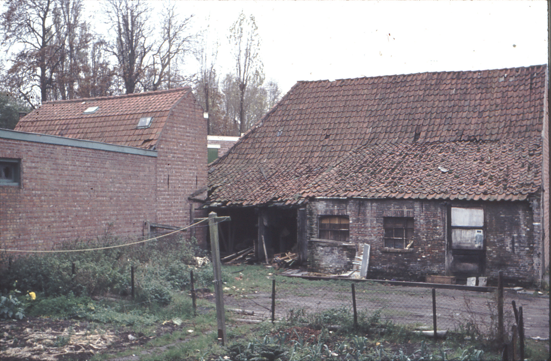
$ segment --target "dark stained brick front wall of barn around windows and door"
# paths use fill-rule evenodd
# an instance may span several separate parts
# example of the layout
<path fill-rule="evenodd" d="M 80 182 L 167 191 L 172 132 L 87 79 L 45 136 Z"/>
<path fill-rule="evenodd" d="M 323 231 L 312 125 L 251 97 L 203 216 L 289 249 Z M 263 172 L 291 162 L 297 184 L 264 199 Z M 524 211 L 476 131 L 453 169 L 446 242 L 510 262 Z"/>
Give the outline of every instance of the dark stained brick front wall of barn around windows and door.
<path fill-rule="evenodd" d="M 533 283 L 538 279 L 541 260 L 541 238 L 534 234 L 537 225 L 533 225 L 532 208 L 537 208 L 537 200 L 534 202 L 531 207 L 528 201 L 316 199 L 307 206 L 307 238 L 318 238 L 321 215 L 348 215 L 349 241 L 371 245 L 369 278 L 424 281 L 428 274 L 446 274 L 448 207 L 482 207 L 487 247 L 484 276 L 496 278 L 497 272 L 504 270 L 511 282 Z M 383 217 L 413 217 L 412 250 L 383 247 Z M 515 252 L 511 249 L 512 236 Z"/>

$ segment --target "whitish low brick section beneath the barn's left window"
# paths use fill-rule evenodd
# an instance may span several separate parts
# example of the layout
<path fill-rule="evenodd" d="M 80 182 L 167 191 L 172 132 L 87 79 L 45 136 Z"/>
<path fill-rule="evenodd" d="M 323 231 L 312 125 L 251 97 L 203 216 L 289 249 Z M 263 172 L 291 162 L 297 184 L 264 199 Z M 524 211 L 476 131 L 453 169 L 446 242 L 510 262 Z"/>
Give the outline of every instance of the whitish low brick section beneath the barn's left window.
<path fill-rule="evenodd" d="M 356 245 L 313 238 L 308 242 L 308 272 L 340 274 L 352 270 Z"/>

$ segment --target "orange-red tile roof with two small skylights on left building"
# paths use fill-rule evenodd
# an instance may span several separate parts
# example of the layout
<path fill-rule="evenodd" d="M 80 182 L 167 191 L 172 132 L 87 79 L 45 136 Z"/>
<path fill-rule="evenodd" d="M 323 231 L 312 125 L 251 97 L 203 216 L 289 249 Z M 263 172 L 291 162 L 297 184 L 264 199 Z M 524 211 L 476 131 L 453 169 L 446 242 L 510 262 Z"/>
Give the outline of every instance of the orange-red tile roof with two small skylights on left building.
<path fill-rule="evenodd" d="M 15 130 L 152 149 L 170 110 L 190 91 L 191 88 L 178 88 L 49 101 L 21 118 Z M 92 114 L 83 114 L 91 106 L 99 109 Z M 149 128 L 136 129 L 141 117 L 153 117 Z"/>

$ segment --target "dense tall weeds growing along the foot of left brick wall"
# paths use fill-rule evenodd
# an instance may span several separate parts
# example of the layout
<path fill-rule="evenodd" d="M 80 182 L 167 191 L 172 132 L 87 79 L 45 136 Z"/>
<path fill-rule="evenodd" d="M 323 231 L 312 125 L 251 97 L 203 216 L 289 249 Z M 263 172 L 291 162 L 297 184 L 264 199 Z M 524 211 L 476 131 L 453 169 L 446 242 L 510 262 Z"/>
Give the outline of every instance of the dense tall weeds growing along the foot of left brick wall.
<path fill-rule="evenodd" d="M 117 238 L 105 236 L 95 241 L 65 244 L 63 249 L 94 249 L 121 243 Z M 18 302 L 15 292 L 34 292 L 39 295 L 34 303 L 17 304 L 28 306 L 30 314 L 84 317 L 96 312 L 101 298 L 131 300 L 133 266 L 135 298 L 132 304 L 166 306 L 172 302 L 174 292 L 190 289 L 191 270 L 195 273 L 196 287 L 212 284 L 212 267 L 195 267 L 195 257 L 203 253 L 195 239 L 192 242 L 176 239 L 94 251 L 30 255 L 13 260 L 4 255 L 0 290 L 6 300 L 2 300 L 4 304 L 15 305 Z M 105 317 L 102 320 L 105 321 Z"/>

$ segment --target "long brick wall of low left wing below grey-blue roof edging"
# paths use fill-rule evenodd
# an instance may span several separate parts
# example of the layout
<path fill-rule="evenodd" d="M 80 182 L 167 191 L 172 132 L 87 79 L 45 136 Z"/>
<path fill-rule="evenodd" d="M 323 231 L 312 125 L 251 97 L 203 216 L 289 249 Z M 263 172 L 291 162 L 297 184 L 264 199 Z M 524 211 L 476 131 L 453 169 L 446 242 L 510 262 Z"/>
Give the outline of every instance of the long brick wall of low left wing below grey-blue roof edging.
<path fill-rule="evenodd" d="M 0 186 L 0 244 L 48 250 L 63 241 L 142 235 L 155 219 L 154 157 L 0 138 L 21 159 L 21 187 Z"/>

